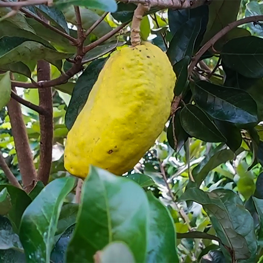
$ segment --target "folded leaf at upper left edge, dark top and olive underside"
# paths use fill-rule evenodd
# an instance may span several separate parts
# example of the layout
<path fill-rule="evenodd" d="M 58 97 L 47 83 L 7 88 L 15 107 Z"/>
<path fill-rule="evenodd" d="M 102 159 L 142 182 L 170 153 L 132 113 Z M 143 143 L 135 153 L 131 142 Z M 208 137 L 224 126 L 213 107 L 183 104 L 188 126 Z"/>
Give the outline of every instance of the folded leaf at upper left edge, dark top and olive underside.
<path fill-rule="evenodd" d="M 43 44 L 27 38 L 2 37 L 0 38 L 0 65 L 14 62 L 29 62 L 31 60 L 45 59 L 53 62 L 71 57 L 70 53 L 58 52 Z"/>

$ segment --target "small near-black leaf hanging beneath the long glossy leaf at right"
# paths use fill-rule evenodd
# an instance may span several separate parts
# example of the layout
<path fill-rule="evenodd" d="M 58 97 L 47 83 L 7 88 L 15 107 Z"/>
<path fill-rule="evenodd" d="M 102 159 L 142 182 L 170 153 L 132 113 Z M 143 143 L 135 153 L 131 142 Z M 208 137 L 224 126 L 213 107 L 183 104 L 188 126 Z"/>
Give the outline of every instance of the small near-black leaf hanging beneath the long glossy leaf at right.
<path fill-rule="evenodd" d="M 242 136 L 240 129 L 227 121 L 215 120 L 215 124 L 226 138 L 226 145 L 233 152 L 236 152 L 236 150 L 238 150 L 242 144 Z"/>

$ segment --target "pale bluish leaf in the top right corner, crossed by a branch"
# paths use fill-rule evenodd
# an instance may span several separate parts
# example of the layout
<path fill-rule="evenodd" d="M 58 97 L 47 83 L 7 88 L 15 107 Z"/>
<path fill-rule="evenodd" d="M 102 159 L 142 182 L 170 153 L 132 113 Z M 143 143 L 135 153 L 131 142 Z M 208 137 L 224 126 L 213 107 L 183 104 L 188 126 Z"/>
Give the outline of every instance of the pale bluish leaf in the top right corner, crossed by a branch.
<path fill-rule="evenodd" d="M 257 1 L 250 1 L 246 4 L 245 16 L 254 16 L 263 14 L 263 4 Z M 263 37 L 262 21 L 256 23 L 248 23 L 248 27 L 258 36 Z"/>

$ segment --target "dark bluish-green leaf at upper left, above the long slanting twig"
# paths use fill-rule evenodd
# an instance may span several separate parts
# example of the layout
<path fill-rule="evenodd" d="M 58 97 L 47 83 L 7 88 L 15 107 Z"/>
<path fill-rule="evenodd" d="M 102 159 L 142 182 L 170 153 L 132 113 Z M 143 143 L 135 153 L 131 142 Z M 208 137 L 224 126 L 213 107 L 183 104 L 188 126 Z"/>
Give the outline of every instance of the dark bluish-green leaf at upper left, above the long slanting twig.
<path fill-rule="evenodd" d="M 61 10 L 57 9 L 56 7 L 47 6 L 44 4 L 36 5 L 36 7 L 46 19 L 55 25 L 55 27 L 58 27 L 67 34 L 70 33 L 67 21 Z"/>

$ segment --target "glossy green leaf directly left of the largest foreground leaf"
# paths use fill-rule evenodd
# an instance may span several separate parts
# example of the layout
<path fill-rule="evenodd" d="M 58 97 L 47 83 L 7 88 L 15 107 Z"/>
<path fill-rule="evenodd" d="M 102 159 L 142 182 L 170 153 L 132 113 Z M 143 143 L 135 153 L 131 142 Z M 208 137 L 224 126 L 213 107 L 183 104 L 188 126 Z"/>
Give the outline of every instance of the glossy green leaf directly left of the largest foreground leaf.
<path fill-rule="evenodd" d="M 65 197 L 74 185 L 75 179 L 72 177 L 52 181 L 24 212 L 19 237 L 28 263 L 38 262 L 39 258 L 49 263 L 59 213 Z"/>

